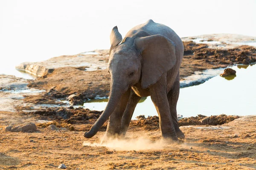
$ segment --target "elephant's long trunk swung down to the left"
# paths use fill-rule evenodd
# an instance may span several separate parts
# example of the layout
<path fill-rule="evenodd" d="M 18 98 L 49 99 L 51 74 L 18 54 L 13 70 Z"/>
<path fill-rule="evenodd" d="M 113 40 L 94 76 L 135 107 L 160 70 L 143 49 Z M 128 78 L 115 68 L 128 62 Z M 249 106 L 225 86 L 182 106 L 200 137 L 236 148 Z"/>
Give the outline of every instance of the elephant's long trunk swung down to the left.
<path fill-rule="evenodd" d="M 111 81 L 111 84 L 113 84 L 112 82 L 113 81 Z M 94 125 L 90 128 L 90 131 L 84 133 L 84 137 L 91 138 L 99 131 L 99 128 L 102 127 L 102 125 L 107 121 L 109 116 L 115 110 L 121 97 L 122 97 L 121 89 L 118 88 L 116 85 L 111 85 L 111 91 L 110 91 L 110 95 L 109 95 L 109 99 L 108 99 L 108 104 L 107 104 L 105 110 L 99 116 L 99 118 L 94 123 Z"/>

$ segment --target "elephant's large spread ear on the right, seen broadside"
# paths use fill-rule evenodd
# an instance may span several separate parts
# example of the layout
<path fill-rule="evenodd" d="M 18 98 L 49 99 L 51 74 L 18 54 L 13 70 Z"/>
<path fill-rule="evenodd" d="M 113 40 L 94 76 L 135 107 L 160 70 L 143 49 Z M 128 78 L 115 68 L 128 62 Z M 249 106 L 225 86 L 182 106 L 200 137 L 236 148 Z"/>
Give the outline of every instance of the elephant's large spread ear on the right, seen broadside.
<path fill-rule="evenodd" d="M 160 34 L 138 37 L 134 44 L 143 57 L 141 85 L 148 88 L 175 65 L 175 44 Z"/>

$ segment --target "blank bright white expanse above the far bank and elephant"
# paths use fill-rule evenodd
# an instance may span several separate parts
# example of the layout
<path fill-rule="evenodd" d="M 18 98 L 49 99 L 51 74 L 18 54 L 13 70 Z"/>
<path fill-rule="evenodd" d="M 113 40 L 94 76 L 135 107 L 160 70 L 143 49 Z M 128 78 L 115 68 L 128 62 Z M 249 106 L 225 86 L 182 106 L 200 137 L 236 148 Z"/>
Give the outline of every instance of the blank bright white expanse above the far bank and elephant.
<path fill-rule="evenodd" d="M 108 49 L 118 26 L 124 37 L 153 19 L 180 37 L 256 36 L 256 0 L 1 0 L 0 74 L 20 62 Z"/>

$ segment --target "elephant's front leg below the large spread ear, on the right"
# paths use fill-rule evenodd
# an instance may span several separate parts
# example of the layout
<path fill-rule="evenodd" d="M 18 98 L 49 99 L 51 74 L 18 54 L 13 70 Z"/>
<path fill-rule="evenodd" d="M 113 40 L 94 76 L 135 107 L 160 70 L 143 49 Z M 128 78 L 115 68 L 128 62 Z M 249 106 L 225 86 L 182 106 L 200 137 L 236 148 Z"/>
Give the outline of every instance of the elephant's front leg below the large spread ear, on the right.
<path fill-rule="evenodd" d="M 172 141 L 178 141 L 175 132 L 175 127 L 172 121 L 172 116 L 170 114 L 169 102 L 167 99 L 166 83 L 164 83 L 163 80 L 161 79 L 156 84 L 151 86 L 151 99 L 159 115 L 162 139 L 164 141 L 166 140 L 167 142 L 169 139 L 172 139 Z"/>

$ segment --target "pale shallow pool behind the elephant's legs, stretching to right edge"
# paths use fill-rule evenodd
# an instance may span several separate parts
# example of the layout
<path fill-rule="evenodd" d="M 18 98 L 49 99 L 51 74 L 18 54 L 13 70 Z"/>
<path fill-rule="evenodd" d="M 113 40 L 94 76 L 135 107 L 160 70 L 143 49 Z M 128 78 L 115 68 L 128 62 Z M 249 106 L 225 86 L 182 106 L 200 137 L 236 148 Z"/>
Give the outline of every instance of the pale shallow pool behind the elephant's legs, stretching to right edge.
<path fill-rule="evenodd" d="M 236 77 L 213 77 L 200 85 L 180 89 L 177 113 L 183 117 L 256 114 L 256 65 L 237 65 Z M 90 100 L 84 103 L 85 108 L 102 111 L 108 99 Z M 144 98 L 135 108 L 132 119 L 144 114 L 157 115 L 150 97 Z"/>

